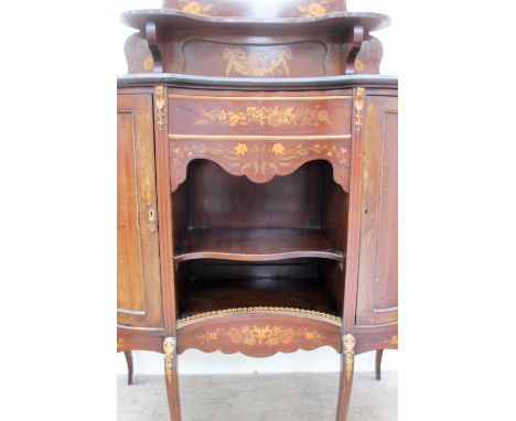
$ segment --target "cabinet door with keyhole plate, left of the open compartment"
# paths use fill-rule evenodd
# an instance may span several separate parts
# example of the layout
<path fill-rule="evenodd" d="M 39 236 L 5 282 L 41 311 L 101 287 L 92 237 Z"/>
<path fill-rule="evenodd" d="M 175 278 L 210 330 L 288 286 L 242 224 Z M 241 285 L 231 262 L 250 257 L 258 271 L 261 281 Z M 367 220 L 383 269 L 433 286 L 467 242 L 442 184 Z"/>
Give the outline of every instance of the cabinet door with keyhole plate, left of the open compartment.
<path fill-rule="evenodd" d="M 118 325 L 159 328 L 161 283 L 152 95 L 118 96 Z"/>

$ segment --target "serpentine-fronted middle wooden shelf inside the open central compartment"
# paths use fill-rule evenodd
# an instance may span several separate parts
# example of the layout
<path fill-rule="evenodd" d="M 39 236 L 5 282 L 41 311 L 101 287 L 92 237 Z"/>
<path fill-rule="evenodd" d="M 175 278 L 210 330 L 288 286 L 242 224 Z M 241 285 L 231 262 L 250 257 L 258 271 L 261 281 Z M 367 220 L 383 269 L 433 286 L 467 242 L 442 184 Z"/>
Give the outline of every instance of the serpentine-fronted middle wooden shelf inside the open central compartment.
<path fill-rule="evenodd" d="M 334 248 L 321 229 L 190 229 L 175 253 L 175 262 L 193 259 L 270 261 L 321 258 L 342 262 L 344 253 Z"/>

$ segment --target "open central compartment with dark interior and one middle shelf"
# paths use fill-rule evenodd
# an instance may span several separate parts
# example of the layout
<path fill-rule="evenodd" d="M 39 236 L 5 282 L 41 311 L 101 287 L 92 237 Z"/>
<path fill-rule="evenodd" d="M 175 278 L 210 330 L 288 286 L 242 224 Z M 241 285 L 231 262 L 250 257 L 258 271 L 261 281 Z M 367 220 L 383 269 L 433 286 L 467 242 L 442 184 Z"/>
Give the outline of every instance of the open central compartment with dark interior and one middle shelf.
<path fill-rule="evenodd" d="M 327 161 L 260 184 L 194 160 L 172 195 L 179 317 L 251 306 L 342 316 L 348 198 Z"/>

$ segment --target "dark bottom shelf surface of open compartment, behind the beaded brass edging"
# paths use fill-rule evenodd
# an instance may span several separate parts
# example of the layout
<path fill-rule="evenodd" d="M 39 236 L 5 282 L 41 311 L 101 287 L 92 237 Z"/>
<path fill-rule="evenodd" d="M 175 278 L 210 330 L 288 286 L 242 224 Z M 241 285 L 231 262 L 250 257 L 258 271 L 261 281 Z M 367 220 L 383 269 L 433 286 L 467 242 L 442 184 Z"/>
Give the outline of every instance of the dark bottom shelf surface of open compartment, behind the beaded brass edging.
<path fill-rule="evenodd" d="M 227 309 L 287 307 L 338 315 L 321 279 L 193 280 L 181 319 Z"/>

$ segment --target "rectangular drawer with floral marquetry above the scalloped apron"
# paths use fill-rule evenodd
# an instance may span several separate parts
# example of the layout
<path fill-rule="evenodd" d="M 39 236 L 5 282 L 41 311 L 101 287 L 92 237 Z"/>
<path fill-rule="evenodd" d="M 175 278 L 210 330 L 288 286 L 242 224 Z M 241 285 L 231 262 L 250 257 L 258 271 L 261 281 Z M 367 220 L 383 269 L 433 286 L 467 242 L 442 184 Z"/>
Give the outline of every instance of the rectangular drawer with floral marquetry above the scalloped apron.
<path fill-rule="evenodd" d="M 348 91 L 214 94 L 171 91 L 169 130 L 178 139 L 196 136 L 351 134 Z"/>

